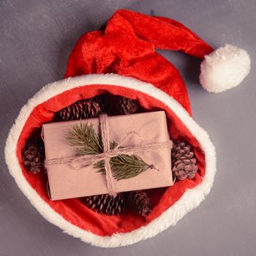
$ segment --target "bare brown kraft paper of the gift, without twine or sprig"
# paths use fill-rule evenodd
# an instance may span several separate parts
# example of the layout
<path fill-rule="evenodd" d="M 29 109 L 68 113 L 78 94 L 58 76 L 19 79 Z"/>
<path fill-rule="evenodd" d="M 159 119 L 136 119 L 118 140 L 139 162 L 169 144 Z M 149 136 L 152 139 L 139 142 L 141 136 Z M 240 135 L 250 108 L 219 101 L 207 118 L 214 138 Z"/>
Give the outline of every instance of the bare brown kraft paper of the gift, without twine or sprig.
<path fill-rule="evenodd" d="M 48 171 L 51 200 L 108 193 L 106 176 L 97 173 L 98 169 L 95 169 L 92 165 L 75 169 L 68 162 L 47 163 L 49 159 L 76 157 L 76 147 L 70 145 L 67 134 L 72 129 L 72 125 L 80 122 L 92 123 L 95 132 L 99 133 L 99 118 L 43 124 L 42 137 L 45 141 L 45 165 Z M 129 132 L 138 133 L 140 138 L 131 135 L 121 143 L 122 147 L 165 143 L 170 140 L 164 111 L 137 113 L 127 116 L 108 116 L 110 140 L 115 140 L 118 143 Z M 158 170 L 149 168 L 134 178 L 120 181 L 113 180 L 116 192 L 172 185 L 170 150 L 169 147 L 136 153 L 144 162 L 148 165 L 154 165 Z"/>

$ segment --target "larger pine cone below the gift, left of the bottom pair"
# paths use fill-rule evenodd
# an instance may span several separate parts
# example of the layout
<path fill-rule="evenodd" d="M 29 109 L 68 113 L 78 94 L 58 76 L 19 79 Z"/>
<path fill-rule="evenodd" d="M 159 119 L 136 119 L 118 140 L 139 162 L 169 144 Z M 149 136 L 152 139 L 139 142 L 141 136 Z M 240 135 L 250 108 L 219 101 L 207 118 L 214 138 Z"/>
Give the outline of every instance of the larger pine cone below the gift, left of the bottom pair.
<path fill-rule="evenodd" d="M 86 205 L 99 214 L 118 215 L 124 211 L 124 197 L 118 193 L 116 197 L 111 195 L 91 195 L 85 197 Z"/>

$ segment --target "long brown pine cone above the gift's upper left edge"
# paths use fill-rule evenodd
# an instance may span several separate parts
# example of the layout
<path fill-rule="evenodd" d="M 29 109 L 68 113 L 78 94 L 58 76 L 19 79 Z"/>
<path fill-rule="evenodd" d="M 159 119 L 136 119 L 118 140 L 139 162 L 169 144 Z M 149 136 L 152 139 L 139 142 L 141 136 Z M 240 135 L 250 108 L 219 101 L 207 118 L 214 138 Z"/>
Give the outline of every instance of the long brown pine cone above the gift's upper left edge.
<path fill-rule="evenodd" d="M 62 108 L 58 116 L 63 121 L 78 120 L 83 118 L 98 117 L 102 113 L 99 103 L 91 99 L 75 102 L 72 105 Z"/>

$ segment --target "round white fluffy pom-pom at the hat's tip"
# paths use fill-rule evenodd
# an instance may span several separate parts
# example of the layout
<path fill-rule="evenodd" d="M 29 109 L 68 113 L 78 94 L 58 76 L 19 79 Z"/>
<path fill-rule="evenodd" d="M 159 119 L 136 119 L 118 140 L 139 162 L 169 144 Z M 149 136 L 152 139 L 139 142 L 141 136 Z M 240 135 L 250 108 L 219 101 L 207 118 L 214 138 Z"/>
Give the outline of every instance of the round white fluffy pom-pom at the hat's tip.
<path fill-rule="evenodd" d="M 225 45 L 205 56 L 201 64 L 200 83 L 209 92 L 226 91 L 244 80 L 250 65 L 246 50 Z"/>

